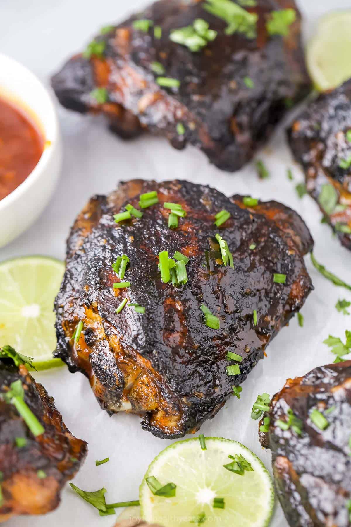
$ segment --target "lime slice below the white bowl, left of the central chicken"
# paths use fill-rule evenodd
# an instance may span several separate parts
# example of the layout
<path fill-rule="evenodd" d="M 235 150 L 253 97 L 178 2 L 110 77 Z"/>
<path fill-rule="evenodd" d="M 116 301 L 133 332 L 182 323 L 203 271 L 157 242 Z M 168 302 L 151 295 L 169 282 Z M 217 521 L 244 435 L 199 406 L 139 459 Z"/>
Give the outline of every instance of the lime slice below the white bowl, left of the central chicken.
<path fill-rule="evenodd" d="M 56 347 L 54 299 L 64 273 L 61 261 L 43 256 L 0 264 L 0 347 L 34 358 L 37 369 L 62 365 Z"/>

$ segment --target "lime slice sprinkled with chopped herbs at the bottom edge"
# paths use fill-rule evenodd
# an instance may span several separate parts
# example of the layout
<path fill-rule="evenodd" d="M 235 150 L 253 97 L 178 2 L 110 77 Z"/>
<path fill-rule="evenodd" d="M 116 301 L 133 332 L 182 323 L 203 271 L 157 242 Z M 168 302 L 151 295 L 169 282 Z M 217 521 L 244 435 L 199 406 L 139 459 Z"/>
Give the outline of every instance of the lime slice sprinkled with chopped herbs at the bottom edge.
<path fill-rule="evenodd" d="M 219 437 L 206 437 L 207 450 L 198 438 L 178 441 L 163 450 L 148 467 L 140 487 L 143 520 L 164 527 L 264 527 L 274 505 L 272 480 L 258 457 L 246 446 Z M 241 454 L 253 471 L 229 472 L 228 455 Z M 146 478 L 159 484 L 175 483 L 174 497 L 157 496 Z M 224 509 L 214 508 L 214 499 L 224 499 Z"/>

